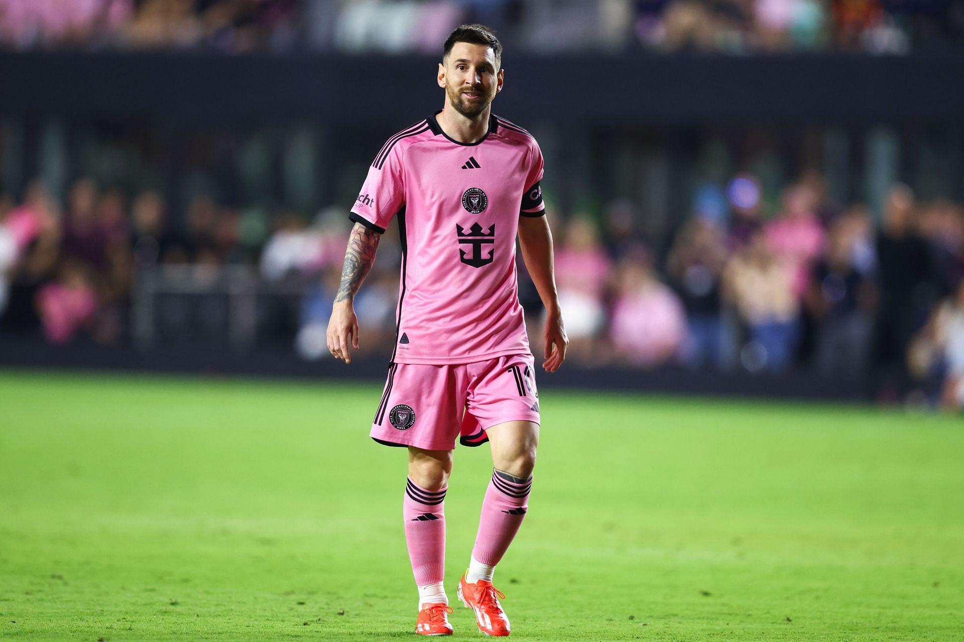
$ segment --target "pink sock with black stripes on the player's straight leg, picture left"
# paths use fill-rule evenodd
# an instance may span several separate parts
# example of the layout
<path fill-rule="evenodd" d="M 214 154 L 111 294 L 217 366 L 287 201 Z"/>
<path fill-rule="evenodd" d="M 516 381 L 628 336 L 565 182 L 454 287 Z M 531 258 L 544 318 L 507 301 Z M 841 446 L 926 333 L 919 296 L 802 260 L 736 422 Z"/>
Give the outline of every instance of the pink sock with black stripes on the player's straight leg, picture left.
<path fill-rule="evenodd" d="M 425 586 L 445 577 L 445 491 L 425 490 L 409 479 L 402 501 L 405 541 L 415 585 Z"/>

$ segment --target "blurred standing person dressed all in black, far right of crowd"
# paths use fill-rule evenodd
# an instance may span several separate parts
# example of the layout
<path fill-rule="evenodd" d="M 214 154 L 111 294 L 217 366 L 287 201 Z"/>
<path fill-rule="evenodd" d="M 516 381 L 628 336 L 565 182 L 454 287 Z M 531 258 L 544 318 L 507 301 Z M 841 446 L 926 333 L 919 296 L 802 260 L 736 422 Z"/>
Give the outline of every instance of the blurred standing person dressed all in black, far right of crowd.
<path fill-rule="evenodd" d="M 931 282 L 927 245 L 915 230 L 914 193 L 906 185 L 895 185 L 887 196 L 876 254 L 879 300 L 871 344 L 871 385 L 876 398 L 896 402 L 910 384 L 907 346 L 923 323 L 919 296 Z"/>

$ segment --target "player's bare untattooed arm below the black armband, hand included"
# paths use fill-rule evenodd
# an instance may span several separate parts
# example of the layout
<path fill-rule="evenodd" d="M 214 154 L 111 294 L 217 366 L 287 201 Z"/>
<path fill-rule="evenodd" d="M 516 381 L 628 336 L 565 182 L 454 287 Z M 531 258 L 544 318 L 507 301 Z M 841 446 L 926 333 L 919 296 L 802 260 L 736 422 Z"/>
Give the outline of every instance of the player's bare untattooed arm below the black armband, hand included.
<path fill-rule="evenodd" d="M 559 309 L 559 295 L 555 290 L 552 233 L 545 216 L 519 218 L 519 246 L 522 248 L 525 268 L 529 270 L 532 283 L 546 306 L 546 361 L 543 368 L 546 372 L 555 372 L 566 358 L 569 338 L 566 337 L 562 311 Z"/>

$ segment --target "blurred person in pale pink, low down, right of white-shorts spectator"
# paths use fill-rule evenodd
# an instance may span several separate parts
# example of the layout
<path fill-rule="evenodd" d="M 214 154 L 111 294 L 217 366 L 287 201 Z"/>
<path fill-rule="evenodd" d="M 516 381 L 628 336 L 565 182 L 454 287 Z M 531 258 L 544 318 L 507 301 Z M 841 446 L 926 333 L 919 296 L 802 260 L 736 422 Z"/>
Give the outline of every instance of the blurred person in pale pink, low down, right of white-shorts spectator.
<path fill-rule="evenodd" d="M 617 269 L 609 325 L 618 357 L 643 368 L 675 363 L 685 335 L 680 299 L 656 278 L 652 259 L 644 250 L 630 252 Z"/>

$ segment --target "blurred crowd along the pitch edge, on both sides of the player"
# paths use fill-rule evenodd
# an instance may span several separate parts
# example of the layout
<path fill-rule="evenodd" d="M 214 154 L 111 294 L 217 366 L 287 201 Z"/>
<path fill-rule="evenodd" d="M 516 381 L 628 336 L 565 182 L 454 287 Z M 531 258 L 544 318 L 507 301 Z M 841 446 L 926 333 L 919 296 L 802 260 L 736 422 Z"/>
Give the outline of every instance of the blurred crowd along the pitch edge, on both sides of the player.
<path fill-rule="evenodd" d="M 37 181 L 18 200 L 0 194 L 0 332 L 122 344 L 142 275 L 163 266 L 247 266 L 268 292 L 294 284 L 281 334 L 308 358 L 327 355 L 324 331 L 350 226 L 344 208 L 257 221 L 199 195 L 175 213 L 161 193 L 128 195 L 90 179 L 64 200 Z M 550 210 L 574 361 L 810 369 L 866 377 L 869 395 L 882 402 L 943 382 L 931 397 L 964 405 L 961 204 L 918 202 L 896 184 L 878 223 L 862 204 L 829 199 L 813 171 L 786 185 L 775 207 L 749 173 L 699 190 L 694 203 L 664 248 L 644 239 L 629 201 L 596 217 Z M 397 232 L 387 234 L 356 301 L 373 350 L 394 341 L 400 253 Z M 521 261 L 518 268 L 539 353 L 541 304 Z"/>

